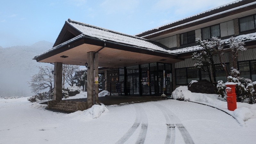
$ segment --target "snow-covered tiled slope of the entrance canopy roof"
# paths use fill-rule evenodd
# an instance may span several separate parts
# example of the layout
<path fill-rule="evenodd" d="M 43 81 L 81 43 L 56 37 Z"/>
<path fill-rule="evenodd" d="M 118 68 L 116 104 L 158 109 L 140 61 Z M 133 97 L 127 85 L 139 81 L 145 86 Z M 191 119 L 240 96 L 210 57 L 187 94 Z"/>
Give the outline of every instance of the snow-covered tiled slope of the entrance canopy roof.
<path fill-rule="evenodd" d="M 147 48 L 149 50 L 169 52 L 165 49 L 164 46 L 157 45 L 155 42 L 150 41 L 148 39 L 119 33 L 105 28 L 99 28 L 96 26 L 92 26 L 70 19 L 68 19 L 68 21 L 66 22 L 78 31 L 80 31 L 84 36 L 90 36 L 101 40 L 112 41 L 121 44 L 128 44 L 141 48 Z"/>

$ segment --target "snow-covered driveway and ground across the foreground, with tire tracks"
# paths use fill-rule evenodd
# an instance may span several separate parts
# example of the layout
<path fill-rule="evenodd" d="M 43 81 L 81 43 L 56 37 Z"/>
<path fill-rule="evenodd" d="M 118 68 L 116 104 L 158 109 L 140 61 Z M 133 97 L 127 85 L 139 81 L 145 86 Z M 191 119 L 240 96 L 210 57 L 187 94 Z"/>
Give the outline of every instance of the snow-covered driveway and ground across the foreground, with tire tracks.
<path fill-rule="evenodd" d="M 213 101 L 204 102 L 226 108 L 224 101 Z M 240 124 L 219 109 L 188 101 L 101 105 L 71 114 L 45 106 L 27 98 L 0 99 L 0 143 L 255 143 L 255 117 Z"/>

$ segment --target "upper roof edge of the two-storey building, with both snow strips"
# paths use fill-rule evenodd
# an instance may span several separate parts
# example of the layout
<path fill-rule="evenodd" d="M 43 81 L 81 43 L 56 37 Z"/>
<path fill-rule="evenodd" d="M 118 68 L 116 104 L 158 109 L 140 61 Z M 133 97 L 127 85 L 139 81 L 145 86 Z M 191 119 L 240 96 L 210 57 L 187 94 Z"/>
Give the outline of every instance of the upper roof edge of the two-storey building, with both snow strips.
<path fill-rule="evenodd" d="M 213 8 L 213 9 L 210 9 L 210 10 L 207 10 L 207 11 L 204 11 L 204 12 L 200 12 L 200 13 L 197 13 L 197 14 L 195 14 L 195 15 L 192 15 L 192 16 L 189 16 L 189 17 L 180 19 L 180 20 L 176 20 L 176 21 L 173 21 L 173 22 L 164 24 L 164 25 L 162 25 L 162 26 L 149 29 L 149 30 L 147 30 L 147 31 L 138 33 L 138 34 L 136 34 L 135 36 L 138 36 L 138 35 L 143 34 L 143 33 L 147 33 L 147 32 L 149 32 L 149 31 L 152 31 L 152 30 L 155 30 L 155 29 L 158 30 L 159 28 L 162 28 L 162 27 L 165 27 L 165 26 L 168 26 L 168 25 L 172 25 L 172 24 L 175 24 L 175 23 L 177 23 L 177 22 L 180 22 L 180 21 L 183 21 L 183 20 L 186 20 L 186 19 L 190 19 L 190 18 L 199 16 L 199 15 L 202 15 L 202 14 L 204 14 L 204 13 L 208 13 L 208 12 L 211 12 L 211 11 L 214 11 L 214 10 L 217 10 L 217 9 L 220 9 L 220 8 L 223 8 L 223 7 L 227 7 L 227 6 L 231 5 L 231 4 L 236 4 L 236 3 L 239 3 L 239 2 L 241 2 L 241 1 L 243 1 L 243 0 L 237 0 L 237 1 L 234 1 L 234 2 L 231 2 L 231 3 L 228 3 L 228 4 L 224 4 L 224 5 L 221 5 L 221 6 L 219 6 L 219 7 L 216 7 L 216 8 Z M 203 19 L 206 19 L 206 18 L 215 16 L 215 15 L 218 15 L 218 14 L 220 14 L 220 13 L 224 13 L 224 12 L 227 12 L 227 11 L 236 10 L 236 9 L 238 9 L 238 8 L 246 7 L 246 6 L 252 5 L 252 4 L 255 4 L 255 2 L 252 2 L 252 3 L 250 3 L 250 4 L 244 4 L 244 5 L 235 7 L 235 8 L 227 9 L 227 10 L 225 10 L 225 11 L 223 11 L 223 12 L 218 12 L 218 13 L 215 13 L 215 14 L 208 15 L 208 16 L 206 16 L 206 17 L 204 16 L 204 17 L 199 18 L 199 19 L 196 19 L 196 20 L 192 20 L 192 21 L 189 21 L 189 22 L 185 22 L 185 23 L 183 23 L 183 25 L 188 24 L 188 23 L 192 23 L 192 22 L 196 22 L 196 21 L 198 21 L 198 20 L 203 20 Z M 157 32 L 153 32 L 153 33 L 151 33 L 151 34 L 147 34 L 147 35 L 141 36 L 141 37 L 150 36 L 150 35 L 153 35 L 153 34 L 156 34 L 156 33 L 160 33 L 160 32 L 163 32 L 163 31 L 165 31 L 165 30 L 169 30 L 169 29 L 176 28 L 176 27 L 179 27 L 179 26 L 181 26 L 181 25 L 177 25 L 177 26 L 174 26 L 174 27 L 166 28 L 166 29 L 163 29 L 163 30 L 160 30 L 160 31 L 157 31 Z"/>

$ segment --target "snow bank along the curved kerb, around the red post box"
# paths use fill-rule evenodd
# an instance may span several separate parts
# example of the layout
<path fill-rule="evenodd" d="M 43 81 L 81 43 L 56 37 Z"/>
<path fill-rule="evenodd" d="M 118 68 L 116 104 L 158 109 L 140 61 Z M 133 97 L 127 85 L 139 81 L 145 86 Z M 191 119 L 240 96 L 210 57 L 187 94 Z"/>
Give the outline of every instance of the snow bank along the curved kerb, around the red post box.
<path fill-rule="evenodd" d="M 188 86 L 180 86 L 172 92 L 172 98 L 175 100 L 184 100 L 205 104 L 220 109 L 233 116 L 238 123 L 244 125 L 245 121 L 256 118 L 256 104 L 237 102 L 235 111 L 228 110 L 227 101 L 218 97 L 217 94 L 194 93 L 188 90 Z"/>

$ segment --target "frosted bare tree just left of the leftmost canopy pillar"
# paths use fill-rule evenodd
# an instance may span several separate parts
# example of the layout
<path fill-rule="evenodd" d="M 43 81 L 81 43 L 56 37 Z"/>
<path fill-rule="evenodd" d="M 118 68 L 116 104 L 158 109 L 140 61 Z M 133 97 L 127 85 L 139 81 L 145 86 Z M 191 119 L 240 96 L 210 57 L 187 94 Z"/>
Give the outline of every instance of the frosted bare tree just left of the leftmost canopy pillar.
<path fill-rule="evenodd" d="M 31 76 L 31 81 L 27 82 L 30 87 L 31 91 L 34 93 L 40 92 L 49 88 L 49 92 L 53 92 L 53 75 L 52 70 L 53 67 L 42 67 L 37 66 L 39 68 L 39 72 L 35 75 Z"/>

